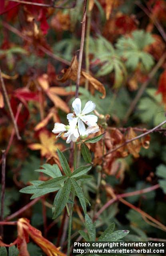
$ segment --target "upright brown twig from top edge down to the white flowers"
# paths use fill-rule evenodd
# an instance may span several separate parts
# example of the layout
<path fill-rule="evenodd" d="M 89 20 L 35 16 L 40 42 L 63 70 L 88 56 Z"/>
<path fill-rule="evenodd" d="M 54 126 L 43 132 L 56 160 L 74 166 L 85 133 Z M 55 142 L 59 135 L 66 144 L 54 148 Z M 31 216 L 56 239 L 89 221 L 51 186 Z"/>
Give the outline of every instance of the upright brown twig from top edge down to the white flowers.
<path fill-rule="evenodd" d="M 84 0 L 84 14 L 83 14 L 83 18 L 82 18 L 80 54 L 79 54 L 79 59 L 78 59 L 78 71 L 77 71 L 77 81 L 76 81 L 76 96 L 75 96 L 76 98 L 78 98 L 78 90 L 79 90 L 79 86 L 80 86 L 82 56 L 83 56 L 84 40 L 85 40 L 85 27 L 86 27 L 86 0 Z"/>

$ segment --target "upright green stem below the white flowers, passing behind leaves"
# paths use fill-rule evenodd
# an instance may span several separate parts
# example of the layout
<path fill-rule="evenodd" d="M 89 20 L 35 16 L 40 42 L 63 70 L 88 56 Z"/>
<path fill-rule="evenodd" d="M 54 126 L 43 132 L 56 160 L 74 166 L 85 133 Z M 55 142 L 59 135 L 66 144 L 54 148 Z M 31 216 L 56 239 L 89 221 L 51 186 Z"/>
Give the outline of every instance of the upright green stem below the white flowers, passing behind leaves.
<path fill-rule="evenodd" d="M 77 165 L 77 143 L 75 143 L 75 148 L 74 148 L 74 169 L 76 169 L 76 165 Z M 72 201 L 73 202 L 74 202 L 74 198 L 75 198 L 75 193 L 72 194 Z M 70 256 L 73 205 L 74 205 L 74 203 L 71 203 L 69 223 L 68 223 L 68 251 L 67 251 L 67 256 Z"/>

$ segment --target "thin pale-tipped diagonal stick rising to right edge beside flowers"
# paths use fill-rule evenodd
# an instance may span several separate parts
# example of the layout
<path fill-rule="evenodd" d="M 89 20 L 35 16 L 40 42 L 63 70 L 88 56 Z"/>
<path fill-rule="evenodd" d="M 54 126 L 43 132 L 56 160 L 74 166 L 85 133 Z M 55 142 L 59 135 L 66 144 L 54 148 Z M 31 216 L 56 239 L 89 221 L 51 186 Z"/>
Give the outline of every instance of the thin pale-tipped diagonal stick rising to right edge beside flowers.
<path fill-rule="evenodd" d="M 108 152 L 107 152 L 106 154 L 104 154 L 104 156 L 102 156 L 102 157 L 105 157 L 105 156 L 109 155 L 110 153 L 112 153 L 112 152 L 118 150 L 119 148 L 125 146 L 126 144 L 128 144 L 128 143 L 130 143 L 130 142 L 132 142 L 132 141 L 134 141 L 134 140 L 137 140 L 137 139 L 139 139 L 139 138 L 142 138 L 142 137 L 146 136 L 147 134 L 150 134 L 150 133 L 154 132 L 156 129 L 158 129 L 160 126 L 162 126 L 162 125 L 165 124 L 165 123 L 166 123 L 166 120 L 163 121 L 163 122 L 161 122 L 160 124 L 158 124 L 158 125 L 155 126 L 154 128 L 152 128 L 151 130 L 148 130 L 147 132 L 144 132 L 144 133 L 142 133 L 142 134 L 140 134 L 140 135 L 138 135 L 138 136 L 136 136 L 136 137 L 134 137 L 134 138 L 132 138 L 132 139 L 130 139 L 130 140 L 126 140 L 126 141 L 125 141 L 124 143 L 122 143 L 121 145 L 119 145 L 119 146 L 113 148 L 112 150 L 108 151 Z M 101 158 L 102 158 L 102 157 L 101 157 Z"/>

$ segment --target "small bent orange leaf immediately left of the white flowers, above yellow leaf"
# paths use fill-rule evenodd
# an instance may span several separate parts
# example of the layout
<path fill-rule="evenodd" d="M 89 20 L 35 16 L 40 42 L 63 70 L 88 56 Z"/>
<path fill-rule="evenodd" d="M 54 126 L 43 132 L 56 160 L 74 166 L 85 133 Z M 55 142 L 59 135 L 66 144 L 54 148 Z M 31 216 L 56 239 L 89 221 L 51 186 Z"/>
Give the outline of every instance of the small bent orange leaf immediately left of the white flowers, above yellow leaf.
<path fill-rule="evenodd" d="M 57 113 L 57 111 L 54 107 L 49 110 L 49 113 L 46 116 L 46 118 L 44 118 L 40 123 L 38 123 L 35 126 L 34 130 L 38 131 L 41 128 L 45 127 L 48 124 L 48 122 L 50 121 L 51 118 L 53 118 L 54 123 L 60 122 L 60 118 L 59 118 L 58 113 Z"/>

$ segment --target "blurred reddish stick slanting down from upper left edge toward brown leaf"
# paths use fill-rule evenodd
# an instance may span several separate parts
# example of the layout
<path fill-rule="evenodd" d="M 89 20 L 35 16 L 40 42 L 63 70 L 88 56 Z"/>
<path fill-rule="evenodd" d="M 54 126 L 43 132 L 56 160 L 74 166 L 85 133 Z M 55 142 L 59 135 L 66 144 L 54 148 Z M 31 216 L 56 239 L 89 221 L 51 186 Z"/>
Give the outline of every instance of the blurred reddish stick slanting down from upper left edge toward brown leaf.
<path fill-rule="evenodd" d="M 11 32 L 13 32 L 14 34 L 20 36 L 22 39 L 32 43 L 32 39 L 29 38 L 28 36 L 23 35 L 18 29 L 10 26 L 7 22 L 2 21 L 2 25 L 7 28 L 8 30 L 10 30 Z M 45 54 L 47 54 L 48 56 L 50 56 L 51 58 L 58 60 L 62 63 L 64 63 L 65 65 L 70 66 L 71 62 L 69 62 L 68 60 L 64 60 L 63 58 L 56 56 L 55 54 L 53 54 L 52 52 L 50 52 L 48 49 L 46 49 L 44 46 L 39 45 L 38 48 L 44 52 Z"/>

